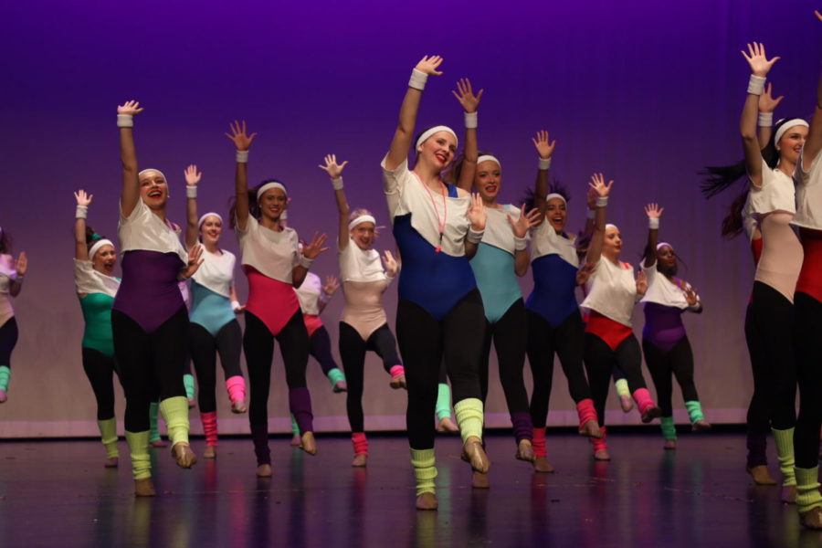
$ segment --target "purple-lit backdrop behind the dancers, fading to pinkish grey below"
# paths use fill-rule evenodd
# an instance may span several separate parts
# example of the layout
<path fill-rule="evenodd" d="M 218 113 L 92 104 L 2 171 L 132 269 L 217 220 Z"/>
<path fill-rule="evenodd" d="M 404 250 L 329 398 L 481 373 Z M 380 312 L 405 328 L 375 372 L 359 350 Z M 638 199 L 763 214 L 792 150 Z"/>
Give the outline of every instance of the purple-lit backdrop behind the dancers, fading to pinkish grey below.
<path fill-rule="evenodd" d="M 94 194 L 90 225 L 115 236 L 118 103 L 136 99 L 146 108 L 136 120 L 140 163 L 168 175 L 172 218 L 183 218 L 188 163 L 205 174 L 201 210 L 225 211 L 234 164 L 223 132 L 238 118 L 259 132 L 251 180 L 281 178 L 293 196 L 291 226 L 304 235 L 316 229 L 333 236 L 332 193 L 316 166 L 325 153 L 350 160 L 351 204 L 387 221 L 378 163 L 408 73 L 424 54 L 444 56 L 445 75 L 429 80 L 419 127 L 461 127 L 450 95 L 456 79 L 469 77 L 475 89 L 484 88 L 480 148 L 504 164 L 505 200 L 518 200 L 532 184 L 530 139 L 544 128 L 557 140 L 552 174 L 574 193 L 572 226 L 583 221 L 585 181 L 594 171 L 617 182 L 609 213 L 627 238 L 625 259 L 636 262 L 646 236 L 642 205 L 666 207 L 660 236 L 688 262 L 683 273 L 706 304 L 688 326 L 708 418 L 743 420 L 751 386 L 742 335 L 751 258 L 742 239 L 725 243 L 717 236 L 732 196 L 706 203 L 696 172 L 740 155 L 736 128 L 747 68 L 739 50 L 746 41 L 761 40 L 769 54 L 783 58 L 772 72 L 775 91 L 787 95 L 777 116 L 811 110 L 822 31 L 813 16 L 818 5 L 279 4 L 35 2 L 2 8 L 0 226 L 14 237 L 16 251 L 28 253 L 30 275 L 15 301 L 21 338 L 11 398 L 0 406 L 0 436 L 95 431 L 93 397 L 79 360 L 71 193 L 84 188 Z M 237 250 L 231 233 L 224 243 Z M 378 243 L 393 246 L 390 234 Z M 335 270 L 332 251 L 315 268 L 321 275 Z M 530 290 L 530 274 L 522 287 Z M 242 275 L 238 288 L 245 295 Z M 325 313 L 334 339 L 340 305 L 338 297 Z M 386 305 L 393 318 L 395 288 Z M 641 327 L 641 314 L 637 320 Z M 331 395 L 316 364 L 309 368 L 315 412 L 330 417 L 319 427 L 346 428 L 344 419 L 334 418 L 344 416 L 343 397 Z M 369 427 L 401 426 L 404 398 L 387 390 L 375 362 L 369 368 L 366 413 L 375 416 Z M 558 374 L 553 409 L 573 408 L 565 386 Z M 489 405 L 504 412 L 497 383 Z M 279 364 L 270 406 L 272 415 L 286 415 Z M 226 411 L 220 406 L 221 416 Z M 505 422 L 501 416 L 497 424 Z M 554 422 L 573 424 L 574 416 L 557 413 Z M 225 424 L 224 430 L 247 427 L 244 418 Z"/>

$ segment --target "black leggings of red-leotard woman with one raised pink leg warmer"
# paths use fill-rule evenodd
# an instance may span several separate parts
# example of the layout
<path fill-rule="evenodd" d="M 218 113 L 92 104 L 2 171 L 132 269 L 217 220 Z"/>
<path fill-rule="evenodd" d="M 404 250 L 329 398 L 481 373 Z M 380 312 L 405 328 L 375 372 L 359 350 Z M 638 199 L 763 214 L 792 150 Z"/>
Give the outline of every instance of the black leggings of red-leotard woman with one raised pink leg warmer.
<path fill-rule="evenodd" d="M 631 334 L 619 343 L 617 350 L 611 350 L 607 342 L 594 333 L 585 333 L 585 371 L 588 373 L 588 383 L 591 385 L 591 396 L 600 426 L 605 425 L 608 388 L 615 366 L 625 374 L 631 394 L 646 387 L 645 379 L 642 378 L 642 353 L 637 337 Z"/>

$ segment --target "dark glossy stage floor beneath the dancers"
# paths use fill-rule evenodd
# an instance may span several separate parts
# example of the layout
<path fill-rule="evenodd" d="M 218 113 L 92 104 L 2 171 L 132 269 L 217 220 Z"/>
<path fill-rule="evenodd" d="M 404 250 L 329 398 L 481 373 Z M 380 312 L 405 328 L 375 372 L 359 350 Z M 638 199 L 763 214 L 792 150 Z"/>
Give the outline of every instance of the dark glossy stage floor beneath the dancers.
<path fill-rule="evenodd" d="M 316 457 L 271 439 L 271 479 L 256 478 L 248 439 L 191 470 L 154 449 L 154 499 L 132 496 L 125 442 L 120 469 L 103 469 L 97 442 L 0 442 L 0 546 L 822 545 L 778 488 L 754 487 L 742 434 L 681 436 L 675 452 L 617 434 L 609 463 L 580 437 L 549 443 L 557 472 L 534 474 L 510 437 L 489 437 L 491 489 L 471 490 L 458 437 L 438 438 L 439 511 L 425 512 L 403 437 L 374 437 L 368 469 L 350 468 L 345 438 L 321 437 Z"/>

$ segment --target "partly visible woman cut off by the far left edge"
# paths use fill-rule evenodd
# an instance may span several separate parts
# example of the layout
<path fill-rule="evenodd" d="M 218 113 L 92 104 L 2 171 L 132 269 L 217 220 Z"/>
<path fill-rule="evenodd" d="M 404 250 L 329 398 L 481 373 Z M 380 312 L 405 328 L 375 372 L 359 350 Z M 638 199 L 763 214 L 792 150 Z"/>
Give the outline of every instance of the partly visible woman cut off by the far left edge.
<path fill-rule="evenodd" d="M 27 268 L 26 252 L 21 251 L 15 260 L 11 255 L 11 238 L 0 228 L 0 404 L 8 399 L 11 353 L 17 343 L 17 321 L 11 298 L 23 289 Z"/>

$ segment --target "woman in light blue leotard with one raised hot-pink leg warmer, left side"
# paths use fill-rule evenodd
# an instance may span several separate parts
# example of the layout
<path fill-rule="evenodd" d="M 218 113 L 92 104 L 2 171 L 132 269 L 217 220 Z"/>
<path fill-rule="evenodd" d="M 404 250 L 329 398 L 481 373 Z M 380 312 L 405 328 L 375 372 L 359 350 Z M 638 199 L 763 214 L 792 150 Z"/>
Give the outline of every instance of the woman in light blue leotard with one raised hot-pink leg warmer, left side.
<path fill-rule="evenodd" d="M 196 165 L 185 171 L 185 246 L 203 247 L 203 264 L 191 280 L 191 313 L 188 352 L 194 362 L 199 384 L 197 403 L 205 432 L 203 457 L 216 458 L 216 355 L 226 375 L 226 390 L 232 413 L 246 412 L 246 380 L 240 369 L 243 334 L 236 318 L 237 291 L 234 288 L 234 254 L 219 247 L 223 217 L 215 212 L 197 216 L 197 185 L 203 174 Z M 233 305 L 232 303 L 237 303 Z"/>

